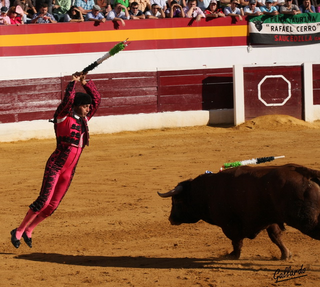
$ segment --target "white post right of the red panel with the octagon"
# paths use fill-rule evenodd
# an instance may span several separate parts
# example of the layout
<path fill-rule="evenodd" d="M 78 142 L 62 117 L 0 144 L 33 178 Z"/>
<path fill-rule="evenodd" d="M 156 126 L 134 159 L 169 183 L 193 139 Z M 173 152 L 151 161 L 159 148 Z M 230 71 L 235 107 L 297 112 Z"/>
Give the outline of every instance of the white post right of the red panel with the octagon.
<path fill-rule="evenodd" d="M 313 122 L 313 85 L 312 63 L 303 63 L 303 105 L 304 120 Z"/>

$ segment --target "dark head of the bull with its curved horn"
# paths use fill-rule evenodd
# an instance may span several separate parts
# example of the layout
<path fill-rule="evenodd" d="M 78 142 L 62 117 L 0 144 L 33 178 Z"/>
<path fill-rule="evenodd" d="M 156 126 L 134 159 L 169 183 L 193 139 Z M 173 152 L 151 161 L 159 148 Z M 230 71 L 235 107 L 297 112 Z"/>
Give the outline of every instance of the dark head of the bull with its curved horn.
<path fill-rule="evenodd" d="M 172 207 L 169 216 L 171 225 L 181 223 L 196 223 L 200 219 L 194 214 L 190 193 L 191 180 L 180 182 L 174 189 L 167 193 L 159 193 L 162 198 L 171 197 Z"/>

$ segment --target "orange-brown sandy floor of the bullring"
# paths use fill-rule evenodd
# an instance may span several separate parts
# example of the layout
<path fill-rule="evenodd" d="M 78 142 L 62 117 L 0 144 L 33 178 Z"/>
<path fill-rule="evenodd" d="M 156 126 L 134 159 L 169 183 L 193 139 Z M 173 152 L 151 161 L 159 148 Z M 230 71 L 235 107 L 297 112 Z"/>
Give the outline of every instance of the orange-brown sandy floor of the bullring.
<path fill-rule="evenodd" d="M 53 132 L 53 130 L 52 130 Z M 0 143 L 0 287 L 318 286 L 320 241 L 288 227 L 288 262 L 265 231 L 239 260 L 219 227 L 171 226 L 166 192 L 225 162 L 284 155 L 268 165 L 320 169 L 320 123 L 259 117 L 239 127 L 188 127 L 92 135 L 57 211 L 33 232 L 33 248 L 9 232 L 37 197 L 54 140 Z M 265 164 L 267 165 L 267 164 Z M 277 269 L 304 277 L 275 283 Z"/>

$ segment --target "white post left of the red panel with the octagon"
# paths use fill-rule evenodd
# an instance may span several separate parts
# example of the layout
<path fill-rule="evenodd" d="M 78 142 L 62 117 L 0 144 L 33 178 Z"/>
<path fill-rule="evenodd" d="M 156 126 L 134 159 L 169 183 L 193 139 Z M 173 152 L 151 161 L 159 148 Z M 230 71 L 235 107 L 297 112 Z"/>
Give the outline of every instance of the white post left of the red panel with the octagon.
<path fill-rule="evenodd" d="M 233 65 L 233 113 L 234 125 L 244 122 L 243 66 Z"/>

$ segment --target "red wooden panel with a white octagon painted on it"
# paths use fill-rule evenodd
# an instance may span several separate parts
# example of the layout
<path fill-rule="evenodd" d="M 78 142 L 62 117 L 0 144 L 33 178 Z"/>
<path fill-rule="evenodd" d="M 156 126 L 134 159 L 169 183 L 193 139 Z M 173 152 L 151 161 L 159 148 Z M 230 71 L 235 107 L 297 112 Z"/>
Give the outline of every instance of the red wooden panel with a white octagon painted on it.
<path fill-rule="evenodd" d="M 263 80 L 265 76 L 268 77 Z M 245 67 L 243 78 L 245 120 L 270 114 L 302 119 L 302 66 Z"/>

